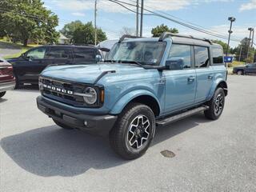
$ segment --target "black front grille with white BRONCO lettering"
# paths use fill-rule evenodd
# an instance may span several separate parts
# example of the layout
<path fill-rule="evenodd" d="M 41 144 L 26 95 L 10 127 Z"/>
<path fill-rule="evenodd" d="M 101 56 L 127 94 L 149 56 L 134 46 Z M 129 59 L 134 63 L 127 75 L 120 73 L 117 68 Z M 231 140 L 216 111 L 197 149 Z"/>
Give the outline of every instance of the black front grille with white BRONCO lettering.
<path fill-rule="evenodd" d="M 82 96 L 74 95 L 74 93 L 82 94 L 86 85 L 51 78 L 39 78 L 39 87 L 42 95 L 46 98 L 71 106 L 86 106 Z"/>

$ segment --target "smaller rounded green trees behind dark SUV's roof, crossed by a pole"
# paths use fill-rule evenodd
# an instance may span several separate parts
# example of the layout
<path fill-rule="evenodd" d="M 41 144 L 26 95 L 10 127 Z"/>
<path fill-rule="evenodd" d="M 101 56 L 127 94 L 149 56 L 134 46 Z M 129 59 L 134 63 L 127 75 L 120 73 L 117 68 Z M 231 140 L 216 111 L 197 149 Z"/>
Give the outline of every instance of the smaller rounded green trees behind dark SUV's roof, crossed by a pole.
<path fill-rule="evenodd" d="M 83 24 L 80 21 L 70 22 L 66 24 L 61 33 L 71 38 L 75 44 L 94 44 L 95 28 L 92 22 Z M 102 29 L 97 29 L 98 42 L 106 40 L 106 33 Z"/>

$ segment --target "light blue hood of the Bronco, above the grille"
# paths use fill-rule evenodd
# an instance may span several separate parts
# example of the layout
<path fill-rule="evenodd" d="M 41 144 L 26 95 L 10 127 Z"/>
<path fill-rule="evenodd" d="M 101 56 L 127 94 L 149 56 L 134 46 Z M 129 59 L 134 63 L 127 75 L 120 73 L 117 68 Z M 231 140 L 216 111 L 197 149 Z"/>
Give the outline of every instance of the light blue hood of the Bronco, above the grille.
<path fill-rule="evenodd" d="M 105 71 L 115 71 L 115 74 L 143 73 L 145 69 L 128 64 L 93 64 L 75 66 L 50 66 L 42 71 L 42 76 L 68 80 L 71 82 L 94 83 Z"/>

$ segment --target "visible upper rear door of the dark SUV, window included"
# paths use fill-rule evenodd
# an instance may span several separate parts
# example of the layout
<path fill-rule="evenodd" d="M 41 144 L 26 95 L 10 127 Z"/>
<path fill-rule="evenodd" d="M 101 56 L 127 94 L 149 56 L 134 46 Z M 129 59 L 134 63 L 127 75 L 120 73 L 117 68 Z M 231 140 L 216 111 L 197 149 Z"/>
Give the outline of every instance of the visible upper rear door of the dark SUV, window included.
<path fill-rule="evenodd" d="M 74 64 L 91 64 L 96 62 L 97 49 L 86 47 L 73 47 Z"/>

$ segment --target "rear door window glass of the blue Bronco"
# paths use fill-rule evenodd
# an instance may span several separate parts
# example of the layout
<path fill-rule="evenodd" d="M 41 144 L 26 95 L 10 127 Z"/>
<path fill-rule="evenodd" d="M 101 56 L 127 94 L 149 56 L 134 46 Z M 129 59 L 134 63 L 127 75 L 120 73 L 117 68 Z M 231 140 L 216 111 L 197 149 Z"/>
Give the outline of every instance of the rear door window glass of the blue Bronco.
<path fill-rule="evenodd" d="M 195 67 L 207 67 L 209 64 L 209 50 L 205 46 L 194 46 Z"/>

